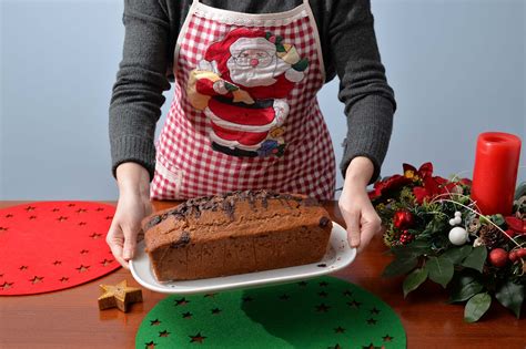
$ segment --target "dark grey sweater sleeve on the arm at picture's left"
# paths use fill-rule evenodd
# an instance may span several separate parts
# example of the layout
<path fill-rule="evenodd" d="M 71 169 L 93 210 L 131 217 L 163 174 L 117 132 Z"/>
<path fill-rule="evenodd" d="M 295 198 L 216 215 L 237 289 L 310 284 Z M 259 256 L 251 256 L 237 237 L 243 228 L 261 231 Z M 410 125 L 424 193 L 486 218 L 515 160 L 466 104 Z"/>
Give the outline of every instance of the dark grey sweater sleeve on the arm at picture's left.
<path fill-rule="evenodd" d="M 112 172 L 124 162 L 144 166 L 153 177 L 155 124 L 164 103 L 170 23 L 156 0 L 125 0 L 122 61 L 110 103 Z"/>

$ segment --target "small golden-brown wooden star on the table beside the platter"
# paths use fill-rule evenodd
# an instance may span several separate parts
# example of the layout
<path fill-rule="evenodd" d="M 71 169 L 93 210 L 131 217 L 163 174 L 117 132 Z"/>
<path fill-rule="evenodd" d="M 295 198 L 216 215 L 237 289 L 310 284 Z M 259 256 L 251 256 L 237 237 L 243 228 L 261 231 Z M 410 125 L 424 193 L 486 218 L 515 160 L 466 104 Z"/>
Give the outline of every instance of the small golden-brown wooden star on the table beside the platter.
<path fill-rule="evenodd" d="M 102 295 L 99 297 L 99 309 L 119 308 L 127 312 L 128 305 L 142 301 L 142 290 L 136 287 L 129 287 L 127 280 L 117 285 L 101 285 Z"/>

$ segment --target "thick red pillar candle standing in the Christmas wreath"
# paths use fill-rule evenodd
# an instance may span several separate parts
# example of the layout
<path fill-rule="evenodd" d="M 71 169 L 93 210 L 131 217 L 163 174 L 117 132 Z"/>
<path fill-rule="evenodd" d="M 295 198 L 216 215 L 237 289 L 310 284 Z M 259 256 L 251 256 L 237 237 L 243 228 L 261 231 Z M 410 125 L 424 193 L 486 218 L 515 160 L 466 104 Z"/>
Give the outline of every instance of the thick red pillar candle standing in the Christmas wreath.
<path fill-rule="evenodd" d="M 509 133 L 478 135 L 472 198 L 484 215 L 510 215 L 517 182 L 520 138 Z"/>

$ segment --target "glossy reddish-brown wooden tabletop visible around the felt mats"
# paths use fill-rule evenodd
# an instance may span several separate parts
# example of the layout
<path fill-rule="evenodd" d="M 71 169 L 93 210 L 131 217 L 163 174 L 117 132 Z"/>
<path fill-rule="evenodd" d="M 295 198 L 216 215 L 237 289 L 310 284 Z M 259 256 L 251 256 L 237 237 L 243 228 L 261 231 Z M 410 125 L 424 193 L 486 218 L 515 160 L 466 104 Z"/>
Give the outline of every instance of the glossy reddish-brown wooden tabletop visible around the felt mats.
<path fill-rule="evenodd" d="M 0 208 L 14 204 L 20 202 L 0 202 Z M 154 205 L 160 209 L 173 203 Z M 326 203 L 326 207 L 335 222 L 343 222 L 336 203 Z M 469 325 L 463 321 L 464 307 L 446 305 L 446 292 L 435 284 L 426 284 L 404 299 L 401 278 L 381 277 L 391 259 L 385 249 L 377 237 L 335 276 L 360 285 L 393 307 L 406 329 L 408 348 L 526 348 L 526 320 L 517 320 L 499 305 L 492 306 L 484 320 Z M 128 314 L 99 311 L 99 284 L 122 279 L 139 286 L 121 268 L 62 291 L 0 297 L 0 348 L 134 348 L 142 319 L 166 296 L 144 289 L 144 302 L 133 305 Z"/>

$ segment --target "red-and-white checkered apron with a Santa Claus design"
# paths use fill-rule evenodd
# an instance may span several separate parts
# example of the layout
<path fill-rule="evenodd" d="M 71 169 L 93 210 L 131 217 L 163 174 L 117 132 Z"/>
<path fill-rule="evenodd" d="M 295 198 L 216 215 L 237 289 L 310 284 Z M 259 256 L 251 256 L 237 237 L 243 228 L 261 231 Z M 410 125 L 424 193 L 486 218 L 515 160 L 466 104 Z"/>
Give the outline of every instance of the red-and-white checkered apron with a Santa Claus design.
<path fill-rule="evenodd" d="M 316 100 L 325 73 L 308 0 L 263 14 L 194 0 L 174 53 L 152 198 L 249 188 L 334 197 L 334 153 Z"/>

